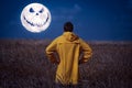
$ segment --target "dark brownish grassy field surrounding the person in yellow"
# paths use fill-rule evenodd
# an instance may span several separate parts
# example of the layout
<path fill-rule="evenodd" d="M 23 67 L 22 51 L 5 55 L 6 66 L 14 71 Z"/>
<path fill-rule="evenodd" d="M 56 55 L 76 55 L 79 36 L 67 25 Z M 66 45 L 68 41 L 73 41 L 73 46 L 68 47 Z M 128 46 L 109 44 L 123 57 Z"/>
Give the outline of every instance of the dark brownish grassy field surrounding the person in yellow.
<path fill-rule="evenodd" d="M 48 40 L 0 40 L 0 88 L 54 88 L 56 65 L 45 55 Z M 132 88 L 132 42 L 88 42 L 78 88 Z"/>

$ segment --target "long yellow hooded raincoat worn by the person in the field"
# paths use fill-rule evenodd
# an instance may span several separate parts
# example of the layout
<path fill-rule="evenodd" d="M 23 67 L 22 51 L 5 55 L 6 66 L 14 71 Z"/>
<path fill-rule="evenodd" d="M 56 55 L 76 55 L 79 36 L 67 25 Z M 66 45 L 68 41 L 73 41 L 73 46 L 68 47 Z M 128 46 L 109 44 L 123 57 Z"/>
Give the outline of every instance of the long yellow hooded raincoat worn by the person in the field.
<path fill-rule="evenodd" d="M 56 58 L 57 53 L 58 58 Z M 63 85 L 78 84 L 78 64 L 85 63 L 91 56 L 91 48 L 73 32 L 64 32 L 47 47 L 46 54 L 51 62 L 57 63 L 56 82 Z M 81 58 L 80 54 L 82 54 Z"/>

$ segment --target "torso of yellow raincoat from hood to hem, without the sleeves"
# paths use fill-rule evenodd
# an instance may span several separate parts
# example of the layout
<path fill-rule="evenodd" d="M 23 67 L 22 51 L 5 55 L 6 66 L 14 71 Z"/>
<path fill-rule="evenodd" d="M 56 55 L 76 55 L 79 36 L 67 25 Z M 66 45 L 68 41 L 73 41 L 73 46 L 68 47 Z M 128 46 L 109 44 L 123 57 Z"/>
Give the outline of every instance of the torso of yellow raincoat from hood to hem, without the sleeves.
<path fill-rule="evenodd" d="M 77 84 L 79 37 L 74 33 L 65 32 L 57 42 L 57 53 L 61 59 L 56 72 L 56 81 L 62 84 Z"/>

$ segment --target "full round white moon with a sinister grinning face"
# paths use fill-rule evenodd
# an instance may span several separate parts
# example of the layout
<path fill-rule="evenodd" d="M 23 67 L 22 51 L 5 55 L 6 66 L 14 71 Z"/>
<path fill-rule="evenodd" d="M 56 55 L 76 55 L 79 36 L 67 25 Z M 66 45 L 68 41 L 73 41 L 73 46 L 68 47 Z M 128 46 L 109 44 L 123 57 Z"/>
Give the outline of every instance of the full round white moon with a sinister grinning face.
<path fill-rule="evenodd" d="M 31 3 L 21 13 L 22 25 L 34 33 L 45 31 L 50 26 L 51 20 L 48 9 L 41 3 Z"/>

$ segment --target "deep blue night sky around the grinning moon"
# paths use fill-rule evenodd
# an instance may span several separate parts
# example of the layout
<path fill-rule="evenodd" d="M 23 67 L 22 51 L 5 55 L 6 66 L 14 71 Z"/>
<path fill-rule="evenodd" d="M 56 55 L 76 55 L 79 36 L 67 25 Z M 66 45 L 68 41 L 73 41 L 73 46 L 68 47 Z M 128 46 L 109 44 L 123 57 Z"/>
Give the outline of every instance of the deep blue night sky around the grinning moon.
<path fill-rule="evenodd" d="M 38 2 L 52 14 L 50 28 L 26 31 L 20 20 L 25 6 Z M 0 38 L 55 38 L 70 21 L 75 33 L 87 41 L 132 41 L 132 0 L 1 0 Z"/>

